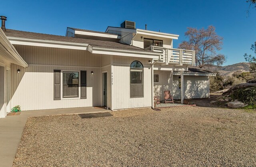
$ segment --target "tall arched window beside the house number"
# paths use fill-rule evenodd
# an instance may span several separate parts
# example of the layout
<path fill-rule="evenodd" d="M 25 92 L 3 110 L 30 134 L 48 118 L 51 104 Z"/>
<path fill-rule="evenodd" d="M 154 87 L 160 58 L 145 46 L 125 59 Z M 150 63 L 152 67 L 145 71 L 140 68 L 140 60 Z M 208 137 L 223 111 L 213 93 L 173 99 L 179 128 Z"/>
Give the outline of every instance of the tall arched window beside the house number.
<path fill-rule="evenodd" d="M 143 97 L 143 65 L 139 61 L 134 61 L 130 65 L 130 97 Z"/>

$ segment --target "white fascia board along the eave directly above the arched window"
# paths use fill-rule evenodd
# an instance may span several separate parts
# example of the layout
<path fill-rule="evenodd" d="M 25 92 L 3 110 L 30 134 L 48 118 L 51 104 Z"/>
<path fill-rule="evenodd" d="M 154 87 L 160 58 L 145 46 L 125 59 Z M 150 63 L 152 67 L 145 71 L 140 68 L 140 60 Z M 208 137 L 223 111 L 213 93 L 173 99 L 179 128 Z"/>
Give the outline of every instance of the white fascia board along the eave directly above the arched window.
<path fill-rule="evenodd" d="M 117 55 L 117 56 L 128 56 L 128 57 L 142 57 L 149 59 L 158 59 L 159 53 L 149 53 L 143 51 L 130 51 L 120 49 L 107 49 L 101 47 L 92 47 L 91 53 L 103 54 L 103 55 Z"/>

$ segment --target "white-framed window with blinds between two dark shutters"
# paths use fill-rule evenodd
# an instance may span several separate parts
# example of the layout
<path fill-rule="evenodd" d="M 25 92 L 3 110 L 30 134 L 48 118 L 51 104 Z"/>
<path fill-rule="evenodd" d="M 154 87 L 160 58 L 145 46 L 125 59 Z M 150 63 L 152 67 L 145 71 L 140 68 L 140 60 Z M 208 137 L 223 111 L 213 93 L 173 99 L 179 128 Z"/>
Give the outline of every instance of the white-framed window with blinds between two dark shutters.
<path fill-rule="evenodd" d="M 79 73 L 62 72 L 63 98 L 79 96 Z"/>

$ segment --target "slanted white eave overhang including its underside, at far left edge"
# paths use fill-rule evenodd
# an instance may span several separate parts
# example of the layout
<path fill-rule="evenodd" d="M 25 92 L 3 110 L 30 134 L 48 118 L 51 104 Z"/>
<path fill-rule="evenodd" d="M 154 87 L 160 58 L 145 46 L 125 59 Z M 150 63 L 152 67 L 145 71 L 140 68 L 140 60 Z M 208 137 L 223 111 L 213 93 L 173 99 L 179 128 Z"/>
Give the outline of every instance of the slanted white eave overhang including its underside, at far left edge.
<path fill-rule="evenodd" d="M 28 67 L 26 61 L 22 59 L 2 29 L 0 29 L 0 57 L 10 63 L 20 65 L 22 67 Z"/>

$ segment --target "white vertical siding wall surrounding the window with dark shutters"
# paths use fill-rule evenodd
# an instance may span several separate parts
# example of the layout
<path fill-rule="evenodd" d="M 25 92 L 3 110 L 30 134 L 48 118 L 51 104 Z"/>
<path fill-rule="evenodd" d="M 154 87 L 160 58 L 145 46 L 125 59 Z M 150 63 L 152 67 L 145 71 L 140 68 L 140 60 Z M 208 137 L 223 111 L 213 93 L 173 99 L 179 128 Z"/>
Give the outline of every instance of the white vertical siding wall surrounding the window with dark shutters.
<path fill-rule="evenodd" d="M 12 106 L 22 110 L 71 108 L 101 105 L 100 55 L 88 51 L 14 45 L 18 53 L 29 64 L 23 68 L 12 64 Z M 20 69 L 20 73 L 17 73 Z M 54 70 L 87 71 L 87 98 L 53 100 Z M 91 75 L 91 71 L 94 75 Z"/>

